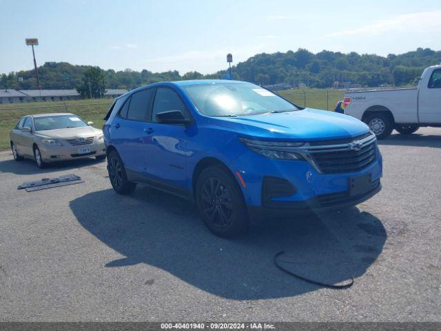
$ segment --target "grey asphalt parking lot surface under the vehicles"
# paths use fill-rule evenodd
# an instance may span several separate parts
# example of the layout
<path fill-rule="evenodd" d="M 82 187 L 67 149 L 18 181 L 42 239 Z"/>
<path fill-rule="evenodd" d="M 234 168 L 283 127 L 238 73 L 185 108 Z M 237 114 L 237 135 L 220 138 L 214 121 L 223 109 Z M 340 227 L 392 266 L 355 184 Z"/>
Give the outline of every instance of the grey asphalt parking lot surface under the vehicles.
<path fill-rule="evenodd" d="M 266 221 L 234 240 L 193 205 L 105 161 L 40 170 L 0 153 L 0 321 L 441 321 L 441 128 L 380 142 L 382 191 L 326 214 Z M 25 192 L 74 173 L 85 183 Z M 346 290 L 311 285 L 278 270 Z"/>

